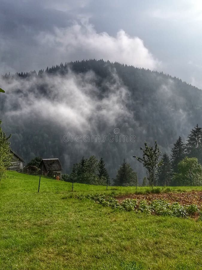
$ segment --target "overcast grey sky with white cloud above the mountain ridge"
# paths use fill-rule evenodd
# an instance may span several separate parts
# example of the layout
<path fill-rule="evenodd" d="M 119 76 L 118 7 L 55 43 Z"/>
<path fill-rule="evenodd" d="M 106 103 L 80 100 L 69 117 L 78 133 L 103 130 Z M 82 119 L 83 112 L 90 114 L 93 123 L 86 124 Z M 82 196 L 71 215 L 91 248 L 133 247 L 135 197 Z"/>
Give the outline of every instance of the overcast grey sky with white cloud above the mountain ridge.
<path fill-rule="evenodd" d="M 0 0 L 0 73 L 103 58 L 202 88 L 202 1 Z"/>

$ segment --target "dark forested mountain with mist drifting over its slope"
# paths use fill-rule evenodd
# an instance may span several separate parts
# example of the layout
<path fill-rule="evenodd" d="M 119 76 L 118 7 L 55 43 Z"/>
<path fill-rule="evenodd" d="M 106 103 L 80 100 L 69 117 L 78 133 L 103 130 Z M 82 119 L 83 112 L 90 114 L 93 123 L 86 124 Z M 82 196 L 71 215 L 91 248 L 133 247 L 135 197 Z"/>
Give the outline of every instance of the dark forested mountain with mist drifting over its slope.
<path fill-rule="evenodd" d="M 13 150 L 26 162 L 59 158 L 66 173 L 82 156 L 95 155 L 104 158 L 110 177 L 125 158 L 143 179 L 133 155 L 141 154 L 145 141 L 157 140 L 170 154 L 179 136 L 186 142 L 202 123 L 200 89 L 162 72 L 109 61 L 5 74 L 0 83 L 6 91 L 0 97 L 2 127 L 13 134 Z"/>

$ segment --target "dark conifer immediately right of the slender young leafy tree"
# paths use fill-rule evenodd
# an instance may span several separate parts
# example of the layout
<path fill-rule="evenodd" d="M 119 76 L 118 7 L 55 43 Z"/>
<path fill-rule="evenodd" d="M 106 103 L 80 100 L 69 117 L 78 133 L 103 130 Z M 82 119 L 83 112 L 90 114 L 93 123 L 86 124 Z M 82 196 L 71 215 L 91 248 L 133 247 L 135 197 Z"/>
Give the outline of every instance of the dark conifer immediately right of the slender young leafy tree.
<path fill-rule="evenodd" d="M 162 156 L 162 165 L 159 167 L 157 172 L 157 185 L 159 186 L 168 186 L 171 182 L 172 177 L 172 165 L 170 158 L 166 153 Z"/>

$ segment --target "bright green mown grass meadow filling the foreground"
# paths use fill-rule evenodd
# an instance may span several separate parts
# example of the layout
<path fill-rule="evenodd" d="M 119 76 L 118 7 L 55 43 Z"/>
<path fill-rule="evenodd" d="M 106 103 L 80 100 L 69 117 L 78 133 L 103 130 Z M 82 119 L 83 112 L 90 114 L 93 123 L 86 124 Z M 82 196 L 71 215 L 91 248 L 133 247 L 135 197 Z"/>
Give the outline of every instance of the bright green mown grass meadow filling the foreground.
<path fill-rule="evenodd" d="M 144 269 L 202 269 L 201 221 L 79 201 L 69 196 L 70 183 L 45 178 L 38 193 L 38 181 L 8 172 L 0 184 L 0 269 L 122 269 L 131 261 Z M 74 194 L 104 189 L 75 184 Z"/>

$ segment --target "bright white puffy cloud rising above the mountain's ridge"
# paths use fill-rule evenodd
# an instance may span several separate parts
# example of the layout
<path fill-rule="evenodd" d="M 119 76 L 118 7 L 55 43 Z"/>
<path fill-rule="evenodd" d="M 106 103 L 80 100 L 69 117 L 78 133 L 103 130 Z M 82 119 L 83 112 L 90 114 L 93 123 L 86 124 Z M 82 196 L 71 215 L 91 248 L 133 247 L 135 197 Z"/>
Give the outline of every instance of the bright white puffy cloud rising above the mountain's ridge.
<path fill-rule="evenodd" d="M 160 62 L 144 46 L 138 37 L 130 37 L 124 30 L 110 36 L 107 32 L 97 33 L 88 22 L 75 23 L 67 28 L 54 28 L 54 33 L 41 32 L 36 40 L 46 54 L 58 59 L 68 59 L 75 54 L 81 58 L 96 58 L 118 61 L 127 65 L 149 68 L 160 66 Z M 54 51 L 54 53 L 52 53 Z"/>

